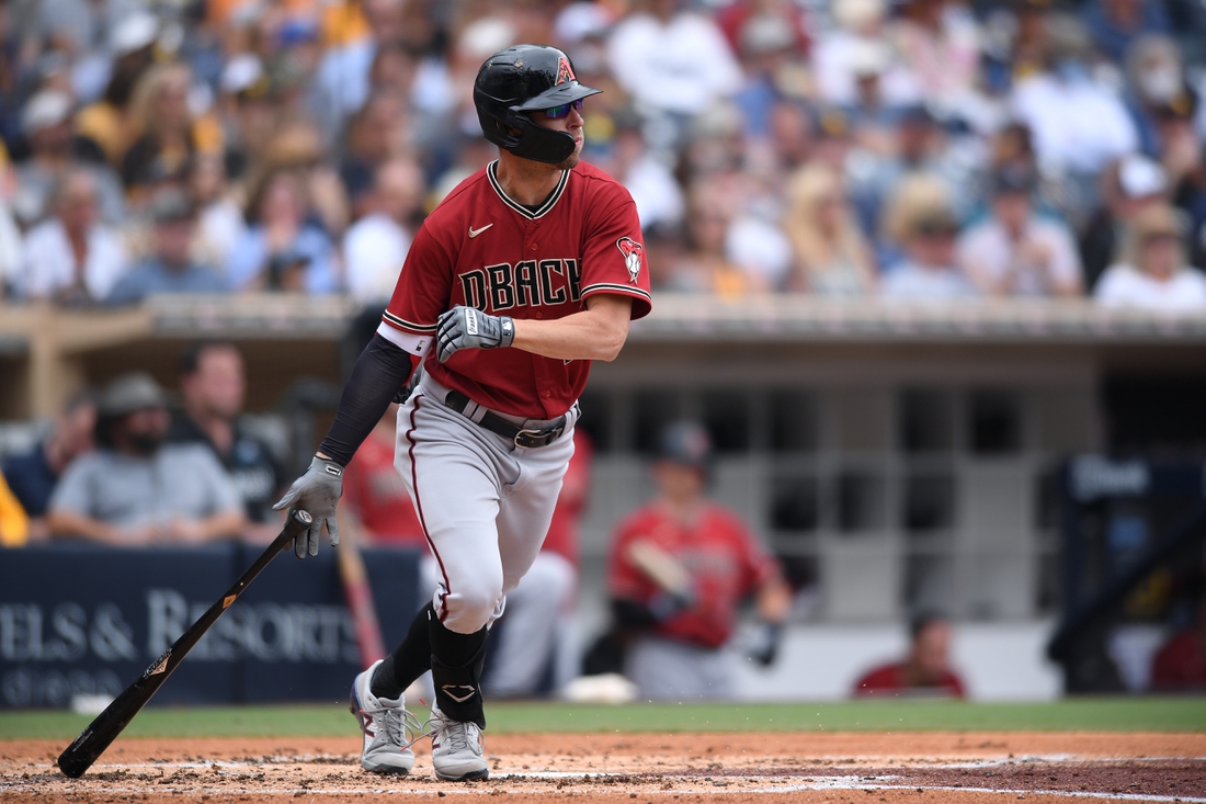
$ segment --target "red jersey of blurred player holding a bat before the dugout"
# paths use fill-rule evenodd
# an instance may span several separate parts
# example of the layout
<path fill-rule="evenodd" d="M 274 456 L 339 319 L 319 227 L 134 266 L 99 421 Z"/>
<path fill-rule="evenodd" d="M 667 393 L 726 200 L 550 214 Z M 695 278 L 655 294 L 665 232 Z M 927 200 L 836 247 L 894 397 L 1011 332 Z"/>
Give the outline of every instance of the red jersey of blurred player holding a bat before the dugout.
<path fill-rule="evenodd" d="M 727 642 L 742 600 L 779 571 L 734 513 L 706 503 L 693 522 L 686 523 L 654 502 L 620 524 L 608 567 L 611 596 L 645 606 L 662 592 L 628 559 L 628 546 L 637 540 L 661 547 L 691 575 L 695 605 L 654 629 L 658 636 L 680 642 L 709 648 Z"/>

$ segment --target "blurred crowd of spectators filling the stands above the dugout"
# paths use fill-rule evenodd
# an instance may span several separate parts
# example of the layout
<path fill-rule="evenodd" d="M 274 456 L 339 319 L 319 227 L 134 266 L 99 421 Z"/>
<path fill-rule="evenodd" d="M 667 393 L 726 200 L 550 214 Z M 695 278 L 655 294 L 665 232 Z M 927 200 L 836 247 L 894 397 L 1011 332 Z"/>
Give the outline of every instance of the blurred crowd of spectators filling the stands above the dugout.
<path fill-rule="evenodd" d="M 12 0 L 0 292 L 380 302 L 520 41 L 657 290 L 1206 309 L 1198 0 Z"/>

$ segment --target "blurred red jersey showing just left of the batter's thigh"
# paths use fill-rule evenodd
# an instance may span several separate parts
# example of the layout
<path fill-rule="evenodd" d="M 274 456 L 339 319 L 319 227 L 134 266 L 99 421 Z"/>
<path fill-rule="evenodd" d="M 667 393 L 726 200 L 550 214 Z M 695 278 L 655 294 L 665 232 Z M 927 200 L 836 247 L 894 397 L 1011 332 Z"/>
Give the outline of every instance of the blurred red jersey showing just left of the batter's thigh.
<path fill-rule="evenodd" d="M 393 467 L 393 439 L 370 435 L 344 472 L 341 503 L 351 506 L 374 544 L 427 547 L 402 476 Z"/>

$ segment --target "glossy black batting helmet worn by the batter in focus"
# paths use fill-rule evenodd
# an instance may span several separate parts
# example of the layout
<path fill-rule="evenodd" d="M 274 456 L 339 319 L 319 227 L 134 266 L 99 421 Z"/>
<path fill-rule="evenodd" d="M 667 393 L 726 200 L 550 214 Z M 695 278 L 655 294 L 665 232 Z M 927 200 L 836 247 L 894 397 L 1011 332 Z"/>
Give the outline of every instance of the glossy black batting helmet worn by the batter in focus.
<path fill-rule="evenodd" d="M 517 157 L 557 164 L 574 138 L 532 122 L 529 112 L 603 92 L 578 83 L 569 57 L 548 45 L 516 45 L 486 59 L 473 83 L 481 133 Z"/>

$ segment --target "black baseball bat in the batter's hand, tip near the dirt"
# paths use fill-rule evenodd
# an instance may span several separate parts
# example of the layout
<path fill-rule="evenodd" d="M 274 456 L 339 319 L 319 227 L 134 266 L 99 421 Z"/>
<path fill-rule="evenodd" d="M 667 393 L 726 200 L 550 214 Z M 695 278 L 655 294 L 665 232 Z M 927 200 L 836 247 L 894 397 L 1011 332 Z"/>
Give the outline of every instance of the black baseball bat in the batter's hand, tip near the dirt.
<path fill-rule="evenodd" d="M 268 546 L 256 563 L 252 564 L 246 572 L 244 572 L 234 585 L 227 589 L 227 593 L 218 598 L 212 606 L 209 607 L 200 618 L 193 623 L 187 631 L 181 634 L 180 639 L 171 643 L 166 651 L 163 652 L 158 659 L 151 663 L 141 676 L 134 680 L 129 687 L 122 691 L 113 703 L 105 707 L 101 712 L 88 724 L 80 736 L 75 739 L 75 742 L 69 745 L 63 753 L 59 755 L 59 770 L 70 776 L 71 779 L 78 779 L 84 774 L 92 763 L 96 762 L 96 758 L 105 752 L 117 735 L 121 734 L 134 716 L 137 715 L 146 703 L 151 700 L 151 697 L 156 694 L 156 691 L 163 686 L 163 682 L 168 680 L 171 671 L 175 670 L 188 652 L 193 649 L 193 646 L 205 633 L 210 630 L 210 627 L 217 622 L 218 617 L 222 616 L 230 604 L 233 604 L 239 595 L 247 588 L 256 576 L 259 575 L 268 564 L 276 558 L 276 554 L 285 549 L 287 546 L 293 543 L 294 536 L 299 535 L 303 530 L 310 526 L 314 522 L 309 513 L 305 511 L 293 511 L 289 513 L 289 520 L 285 524 L 285 529 L 281 535 L 277 536 L 271 544 Z"/>

